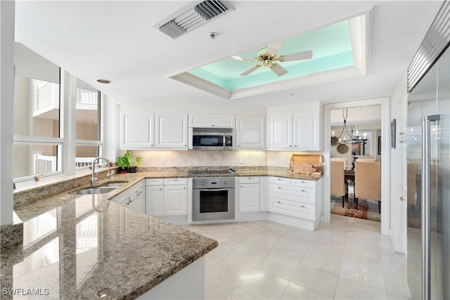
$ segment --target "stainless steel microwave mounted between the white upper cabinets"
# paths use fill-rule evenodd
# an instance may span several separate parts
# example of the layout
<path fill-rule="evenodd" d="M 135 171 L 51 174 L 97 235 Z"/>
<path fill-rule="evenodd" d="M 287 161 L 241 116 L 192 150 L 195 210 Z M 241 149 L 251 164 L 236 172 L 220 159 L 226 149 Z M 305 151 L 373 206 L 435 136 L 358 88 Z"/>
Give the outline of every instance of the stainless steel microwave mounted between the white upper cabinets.
<path fill-rule="evenodd" d="M 234 129 L 231 128 L 190 128 L 189 149 L 232 150 L 234 149 Z"/>

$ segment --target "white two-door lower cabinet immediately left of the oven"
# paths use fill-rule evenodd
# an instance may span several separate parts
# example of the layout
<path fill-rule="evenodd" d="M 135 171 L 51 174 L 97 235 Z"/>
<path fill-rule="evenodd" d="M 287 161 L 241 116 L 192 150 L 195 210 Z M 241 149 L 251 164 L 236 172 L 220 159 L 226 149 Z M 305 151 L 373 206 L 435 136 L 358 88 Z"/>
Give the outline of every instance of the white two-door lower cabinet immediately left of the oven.
<path fill-rule="evenodd" d="M 150 216 L 187 215 L 187 178 L 146 179 L 146 214 Z"/>

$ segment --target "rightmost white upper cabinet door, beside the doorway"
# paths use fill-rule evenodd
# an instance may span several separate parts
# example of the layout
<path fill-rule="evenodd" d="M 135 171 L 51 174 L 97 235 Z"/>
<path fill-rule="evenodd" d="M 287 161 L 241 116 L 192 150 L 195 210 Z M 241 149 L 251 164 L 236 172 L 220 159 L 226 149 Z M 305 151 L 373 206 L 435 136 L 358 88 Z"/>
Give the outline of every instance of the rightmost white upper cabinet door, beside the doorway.
<path fill-rule="evenodd" d="M 319 114 L 294 115 L 294 150 L 320 150 Z"/>

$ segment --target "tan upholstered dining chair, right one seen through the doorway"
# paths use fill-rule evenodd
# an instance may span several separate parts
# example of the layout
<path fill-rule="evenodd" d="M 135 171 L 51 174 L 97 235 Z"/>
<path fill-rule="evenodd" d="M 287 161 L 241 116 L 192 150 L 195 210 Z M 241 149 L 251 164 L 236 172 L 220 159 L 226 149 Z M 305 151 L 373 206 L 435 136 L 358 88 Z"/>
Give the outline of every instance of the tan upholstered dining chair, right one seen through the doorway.
<path fill-rule="evenodd" d="M 378 214 L 381 213 L 381 164 L 380 162 L 358 162 L 354 164 L 354 202 L 377 200 Z"/>

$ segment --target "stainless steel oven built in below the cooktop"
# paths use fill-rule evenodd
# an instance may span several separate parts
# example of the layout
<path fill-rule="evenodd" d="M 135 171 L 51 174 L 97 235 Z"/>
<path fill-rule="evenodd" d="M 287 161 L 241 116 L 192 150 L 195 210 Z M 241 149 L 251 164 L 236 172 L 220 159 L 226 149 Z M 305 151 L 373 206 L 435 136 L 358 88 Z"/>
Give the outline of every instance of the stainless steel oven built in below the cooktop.
<path fill-rule="evenodd" d="M 192 221 L 235 219 L 233 177 L 193 178 Z"/>

